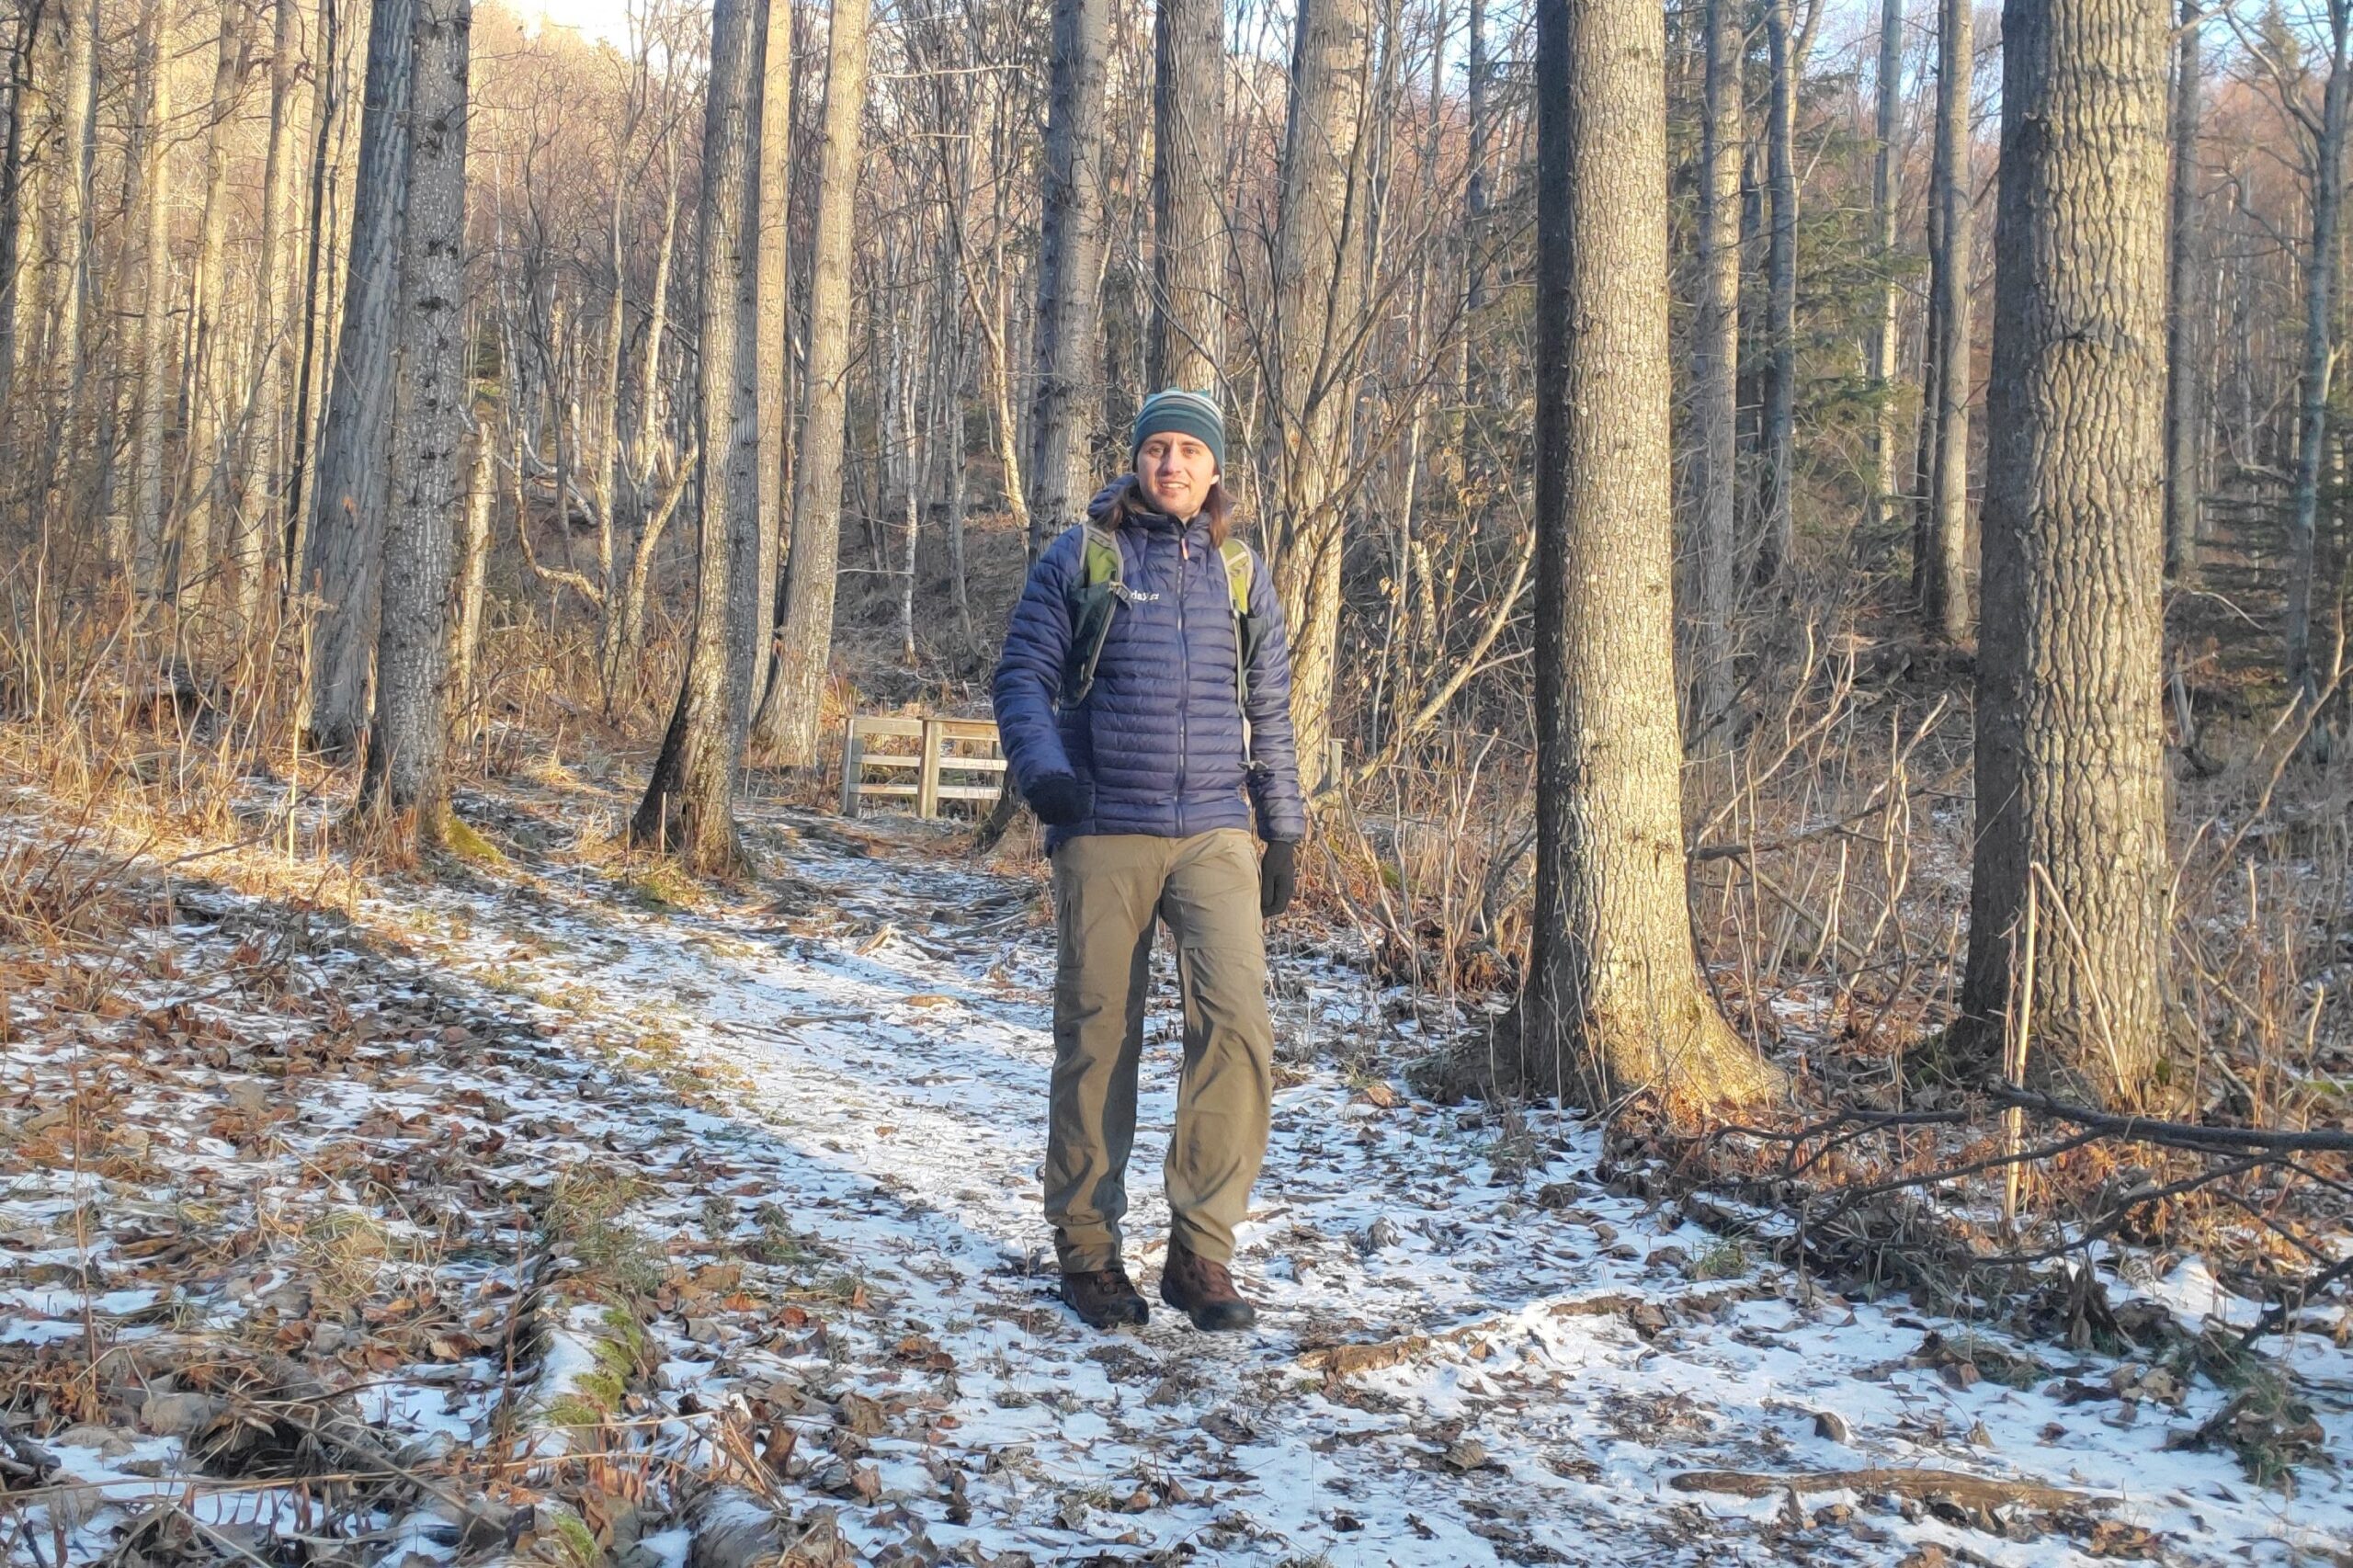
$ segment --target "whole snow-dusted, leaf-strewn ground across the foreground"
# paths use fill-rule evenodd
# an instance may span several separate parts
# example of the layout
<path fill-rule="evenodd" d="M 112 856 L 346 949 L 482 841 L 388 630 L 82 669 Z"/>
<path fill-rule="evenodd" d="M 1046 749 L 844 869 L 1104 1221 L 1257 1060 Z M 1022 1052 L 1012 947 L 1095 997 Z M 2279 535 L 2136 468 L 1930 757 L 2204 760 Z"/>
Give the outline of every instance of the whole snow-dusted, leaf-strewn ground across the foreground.
<path fill-rule="evenodd" d="M 713 895 L 598 852 L 624 808 L 468 793 L 504 859 L 334 897 L 45 873 L 113 925 L 0 946 L 12 1563 L 2353 1563 L 2329 1337 L 2217 1387 L 1840 1295 L 1584 1123 L 1367 1071 L 1407 1008 L 1297 935 L 1259 1333 L 1089 1333 L 1038 1215 L 1042 883 L 755 803 L 767 876 Z M 1176 1031 L 1162 963 L 1146 1293 Z M 2111 1288 L 2254 1314 L 2195 1262 Z M 2228 1441 L 2280 1387 L 2292 1495 Z"/>

